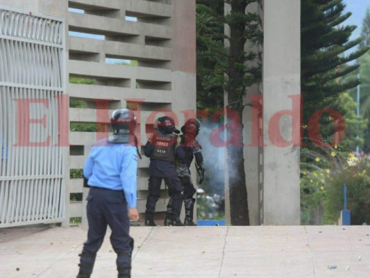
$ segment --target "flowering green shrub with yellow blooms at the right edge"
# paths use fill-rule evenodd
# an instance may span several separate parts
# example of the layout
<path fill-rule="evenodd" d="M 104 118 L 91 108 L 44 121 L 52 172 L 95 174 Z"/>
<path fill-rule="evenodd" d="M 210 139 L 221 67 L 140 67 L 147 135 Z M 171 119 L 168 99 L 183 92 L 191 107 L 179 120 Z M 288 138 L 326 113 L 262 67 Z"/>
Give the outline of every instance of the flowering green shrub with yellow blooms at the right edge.
<path fill-rule="evenodd" d="M 344 184 L 351 224 L 370 222 L 370 161 L 337 147 L 301 152 L 301 223 L 335 224 L 344 209 Z"/>

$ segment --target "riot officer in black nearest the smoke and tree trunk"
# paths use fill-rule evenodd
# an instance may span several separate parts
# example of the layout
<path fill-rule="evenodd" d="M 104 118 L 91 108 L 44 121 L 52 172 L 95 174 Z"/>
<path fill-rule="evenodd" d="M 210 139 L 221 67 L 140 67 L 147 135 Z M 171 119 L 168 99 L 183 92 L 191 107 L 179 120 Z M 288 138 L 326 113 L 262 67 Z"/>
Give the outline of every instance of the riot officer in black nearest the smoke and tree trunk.
<path fill-rule="evenodd" d="M 193 195 L 196 193 L 196 189 L 192 183 L 190 173 L 190 165 L 192 164 L 193 158 L 195 158 L 197 169 L 202 176 L 204 175 L 201 145 L 199 145 L 199 142 L 196 140 L 199 129 L 201 129 L 201 122 L 199 122 L 199 120 L 190 119 L 185 122 L 181 127 L 183 134 L 180 136 L 180 145 L 177 151 L 178 156 L 176 156 L 176 172 L 184 188 L 185 226 L 196 226 L 193 222 L 194 204 L 196 201 Z M 167 204 L 165 226 L 171 226 L 173 224 L 171 218 L 168 217 L 171 213 L 171 202 L 173 202 L 172 196 Z"/>

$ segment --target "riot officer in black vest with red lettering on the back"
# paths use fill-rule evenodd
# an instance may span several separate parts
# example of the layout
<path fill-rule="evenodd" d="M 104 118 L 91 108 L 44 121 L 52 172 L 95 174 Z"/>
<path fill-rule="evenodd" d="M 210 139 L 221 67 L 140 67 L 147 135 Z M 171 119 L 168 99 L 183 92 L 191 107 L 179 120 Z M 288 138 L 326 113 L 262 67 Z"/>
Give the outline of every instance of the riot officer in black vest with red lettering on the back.
<path fill-rule="evenodd" d="M 175 168 L 175 154 L 180 133 L 174 120 L 169 116 L 159 117 L 155 121 L 155 132 L 144 147 L 145 156 L 150 158 L 149 195 L 146 199 L 145 226 L 156 226 L 154 222 L 155 204 L 160 197 L 160 185 L 165 180 L 171 193 L 171 223 L 183 226 L 180 211 L 183 205 L 183 186 L 178 179 Z"/>

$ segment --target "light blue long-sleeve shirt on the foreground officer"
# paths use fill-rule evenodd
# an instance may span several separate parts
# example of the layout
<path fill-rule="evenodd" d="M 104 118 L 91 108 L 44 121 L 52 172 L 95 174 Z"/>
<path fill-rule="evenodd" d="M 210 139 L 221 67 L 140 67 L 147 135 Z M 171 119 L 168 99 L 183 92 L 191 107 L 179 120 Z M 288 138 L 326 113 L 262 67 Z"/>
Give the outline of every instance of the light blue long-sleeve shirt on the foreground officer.
<path fill-rule="evenodd" d="M 100 140 L 92 147 L 83 175 L 89 186 L 124 190 L 128 206 L 136 207 L 137 151 L 133 145 Z"/>

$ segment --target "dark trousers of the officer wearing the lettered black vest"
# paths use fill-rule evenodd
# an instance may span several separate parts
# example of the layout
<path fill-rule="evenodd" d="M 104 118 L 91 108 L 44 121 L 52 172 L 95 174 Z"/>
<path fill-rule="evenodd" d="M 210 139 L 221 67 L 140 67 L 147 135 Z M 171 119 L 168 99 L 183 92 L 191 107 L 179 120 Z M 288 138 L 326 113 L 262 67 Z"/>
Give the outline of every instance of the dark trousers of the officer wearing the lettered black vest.
<path fill-rule="evenodd" d="M 149 195 L 146 199 L 146 212 L 154 213 L 155 203 L 160 197 L 160 184 L 163 179 L 169 188 L 169 195 L 171 195 L 174 201 L 172 204 L 172 211 L 180 215 L 181 204 L 183 202 L 183 185 L 176 175 L 172 177 L 149 177 Z"/>

